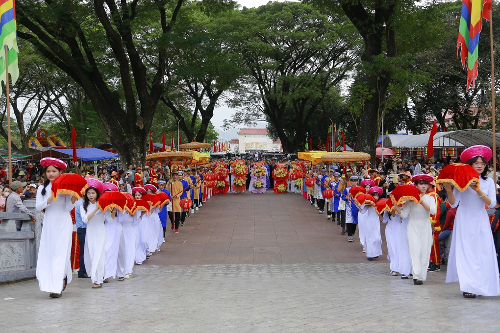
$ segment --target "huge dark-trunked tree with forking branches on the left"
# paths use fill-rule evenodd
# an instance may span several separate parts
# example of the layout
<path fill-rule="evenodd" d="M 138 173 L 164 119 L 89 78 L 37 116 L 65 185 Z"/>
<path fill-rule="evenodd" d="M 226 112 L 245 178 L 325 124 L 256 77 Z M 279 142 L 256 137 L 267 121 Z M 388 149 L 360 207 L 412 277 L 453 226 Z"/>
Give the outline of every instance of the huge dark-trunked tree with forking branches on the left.
<path fill-rule="evenodd" d="M 83 88 L 124 163 L 144 162 L 147 134 L 165 92 L 171 57 L 163 39 L 171 33 L 184 2 L 16 3 L 17 35 Z M 212 10 L 226 2 L 206 0 L 205 7 Z M 152 60 L 146 53 L 154 54 Z"/>

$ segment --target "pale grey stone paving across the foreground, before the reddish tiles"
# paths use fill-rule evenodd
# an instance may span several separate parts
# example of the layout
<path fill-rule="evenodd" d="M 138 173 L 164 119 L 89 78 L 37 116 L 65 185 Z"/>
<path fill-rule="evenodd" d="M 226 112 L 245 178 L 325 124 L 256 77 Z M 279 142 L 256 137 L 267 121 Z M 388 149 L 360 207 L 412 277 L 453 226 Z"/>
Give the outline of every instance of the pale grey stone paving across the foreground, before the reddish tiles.
<path fill-rule="evenodd" d="M 0 332 L 500 331 L 499 297 L 464 299 L 444 272 L 422 286 L 388 272 L 368 263 L 136 266 L 97 290 L 74 279 L 60 299 L 32 280 L 0 286 Z"/>

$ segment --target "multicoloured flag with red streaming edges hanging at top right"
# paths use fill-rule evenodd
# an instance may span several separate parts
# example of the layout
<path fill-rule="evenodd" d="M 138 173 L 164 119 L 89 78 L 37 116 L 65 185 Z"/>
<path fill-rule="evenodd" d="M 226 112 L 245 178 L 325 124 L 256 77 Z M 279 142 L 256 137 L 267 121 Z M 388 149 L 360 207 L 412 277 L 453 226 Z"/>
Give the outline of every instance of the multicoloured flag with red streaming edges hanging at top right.
<path fill-rule="evenodd" d="M 491 0 L 462 0 L 456 56 L 460 57 L 463 68 L 467 59 L 467 91 L 474 86 L 477 77 L 479 33 L 482 28 L 482 18 L 489 20 L 490 9 Z"/>

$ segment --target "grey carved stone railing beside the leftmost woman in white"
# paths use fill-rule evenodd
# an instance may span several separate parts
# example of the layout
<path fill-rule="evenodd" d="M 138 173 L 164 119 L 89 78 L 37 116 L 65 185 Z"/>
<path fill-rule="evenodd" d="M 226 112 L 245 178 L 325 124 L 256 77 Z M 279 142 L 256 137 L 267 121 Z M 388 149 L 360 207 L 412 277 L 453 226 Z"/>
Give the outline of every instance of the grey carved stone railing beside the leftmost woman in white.
<path fill-rule="evenodd" d="M 35 277 L 43 214 L 36 211 L 35 200 L 23 203 L 36 215 L 35 224 L 27 214 L 0 212 L 0 284 Z M 14 220 L 22 221 L 21 231 Z"/>

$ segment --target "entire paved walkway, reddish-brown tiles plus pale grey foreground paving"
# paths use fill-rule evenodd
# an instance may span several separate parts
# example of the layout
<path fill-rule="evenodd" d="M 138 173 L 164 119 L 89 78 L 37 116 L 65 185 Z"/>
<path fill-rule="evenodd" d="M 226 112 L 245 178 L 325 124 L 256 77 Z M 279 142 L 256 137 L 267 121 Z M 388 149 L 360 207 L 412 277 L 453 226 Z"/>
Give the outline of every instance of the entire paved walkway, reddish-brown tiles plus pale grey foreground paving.
<path fill-rule="evenodd" d="M 390 276 L 298 195 L 218 196 L 187 221 L 125 281 L 74 279 L 60 299 L 0 286 L 0 332 L 500 331 L 500 297 L 464 299 L 444 271 Z M 199 265 L 238 261 L 252 264 Z"/>

